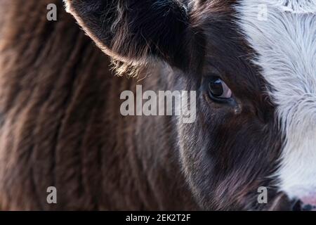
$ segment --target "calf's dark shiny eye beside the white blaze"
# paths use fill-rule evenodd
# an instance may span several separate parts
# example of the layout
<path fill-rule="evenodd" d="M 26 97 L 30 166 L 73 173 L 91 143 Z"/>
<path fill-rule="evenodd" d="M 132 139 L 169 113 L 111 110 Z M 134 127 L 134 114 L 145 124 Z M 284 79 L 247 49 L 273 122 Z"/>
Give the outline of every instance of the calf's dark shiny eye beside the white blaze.
<path fill-rule="evenodd" d="M 227 99 L 232 97 L 232 91 L 220 78 L 213 78 L 209 81 L 209 95 L 211 98 Z"/>

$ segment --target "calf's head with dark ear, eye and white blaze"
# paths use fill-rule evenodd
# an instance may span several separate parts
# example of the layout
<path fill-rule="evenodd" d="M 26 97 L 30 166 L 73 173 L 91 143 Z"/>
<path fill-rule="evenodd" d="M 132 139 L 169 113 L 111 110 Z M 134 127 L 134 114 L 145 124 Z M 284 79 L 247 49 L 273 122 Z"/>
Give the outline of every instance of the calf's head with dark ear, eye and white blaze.
<path fill-rule="evenodd" d="M 312 1 L 69 0 L 112 58 L 163 60 L 197 91 L 178 118 L 180 164 L 206 210 L 316 205 L 316 7 Z M 265 16 L 259 17 L 261 10 Z M 268 205 L 258 188 L 268 188 Z M 297 206 L 297 205 L 296 205 Z"/>

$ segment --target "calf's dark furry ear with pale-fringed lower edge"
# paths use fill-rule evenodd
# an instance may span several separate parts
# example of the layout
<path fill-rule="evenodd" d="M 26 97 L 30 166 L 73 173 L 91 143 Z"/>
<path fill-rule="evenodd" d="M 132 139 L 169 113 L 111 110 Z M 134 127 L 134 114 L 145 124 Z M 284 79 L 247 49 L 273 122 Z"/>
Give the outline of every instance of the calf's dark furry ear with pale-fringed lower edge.
<path fill-rule="evenodd" d="M 125 63 L 185 64 L 188 15 L 178 0 L 66 0 L 67 11 L 107 55 Z"/>

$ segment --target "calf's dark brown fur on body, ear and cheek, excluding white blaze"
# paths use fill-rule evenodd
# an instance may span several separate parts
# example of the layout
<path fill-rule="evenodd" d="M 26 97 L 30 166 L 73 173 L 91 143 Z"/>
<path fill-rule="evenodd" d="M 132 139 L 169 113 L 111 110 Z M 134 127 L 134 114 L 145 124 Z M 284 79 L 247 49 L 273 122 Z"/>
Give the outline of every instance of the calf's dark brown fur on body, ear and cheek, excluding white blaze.
<path fill-rule="evenodd" d="M 232 24 L 235 1 L 68 1 L 100 49 L 147 65 L 144 89 L 197 90 L 197 122 L 180 126 L 122 117 L 119 94 L 136 80 L 114 78 L 105 54 L 53 2 L 55 23 L 44 16 L 52 0 L 0 1 L 1 209 L 254 210 L 263 207 L 259 186 L 275 197 L 267 176 L 282 139 L 260 68 Z M 239 110 L 200 89 L 211 67 Z M 58 188 L 57 205 L 46 203 L 48 186 Z"/>

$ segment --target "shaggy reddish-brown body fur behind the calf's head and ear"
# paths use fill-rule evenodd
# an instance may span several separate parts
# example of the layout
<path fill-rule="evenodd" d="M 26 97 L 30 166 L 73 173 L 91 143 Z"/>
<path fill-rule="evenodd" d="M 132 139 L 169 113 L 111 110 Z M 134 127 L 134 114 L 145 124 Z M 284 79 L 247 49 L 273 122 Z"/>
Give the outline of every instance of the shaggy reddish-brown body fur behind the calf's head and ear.
<path fill-rule="evenodd" d="M 50 3 L 57 22 L 46 20 Z M 113 77 L 62 1 L 0 0 L 0 9 L 1 210 L 197 209 L 162 132 L 169 118 L 120 115 L 119 94 L 137 80 Z M 48 186 L 57 205 L 46 203 Z"/>

